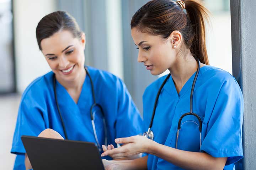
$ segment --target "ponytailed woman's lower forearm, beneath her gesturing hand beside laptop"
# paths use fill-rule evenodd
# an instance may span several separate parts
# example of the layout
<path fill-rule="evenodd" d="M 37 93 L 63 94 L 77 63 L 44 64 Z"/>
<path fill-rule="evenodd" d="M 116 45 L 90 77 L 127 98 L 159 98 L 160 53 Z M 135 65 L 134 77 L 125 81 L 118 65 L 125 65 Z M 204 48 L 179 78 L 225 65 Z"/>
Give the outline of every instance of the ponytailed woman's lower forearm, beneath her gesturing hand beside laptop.
<path fill-rule="evenodd" d="M 117 165 L 119 168 L 122 168 L 123 170 L 143 170 L 147 169 L 147 161 L 148 156 L 133 159 L 133 160 L 112 160 L 112 163 Z M 122 167 L 120 167 L 121 165 Z"/>

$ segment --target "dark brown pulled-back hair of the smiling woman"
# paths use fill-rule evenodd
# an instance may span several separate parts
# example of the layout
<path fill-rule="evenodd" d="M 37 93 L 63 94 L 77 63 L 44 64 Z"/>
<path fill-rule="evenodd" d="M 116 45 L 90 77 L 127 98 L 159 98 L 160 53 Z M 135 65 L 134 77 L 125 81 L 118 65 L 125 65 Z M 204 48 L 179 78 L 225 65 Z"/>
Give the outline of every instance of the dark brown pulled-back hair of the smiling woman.
<path fill-rule="evenodd" d="M 42 50 L 41 41 L 44 38 L 48 38 L 60 30 L 70 31 L 75 38 L 81 38 L 82 35 L 74 17 L 65 11 L 55 11 L 44 16 L 37 25 L 36 37 L 39 49 Z"/>

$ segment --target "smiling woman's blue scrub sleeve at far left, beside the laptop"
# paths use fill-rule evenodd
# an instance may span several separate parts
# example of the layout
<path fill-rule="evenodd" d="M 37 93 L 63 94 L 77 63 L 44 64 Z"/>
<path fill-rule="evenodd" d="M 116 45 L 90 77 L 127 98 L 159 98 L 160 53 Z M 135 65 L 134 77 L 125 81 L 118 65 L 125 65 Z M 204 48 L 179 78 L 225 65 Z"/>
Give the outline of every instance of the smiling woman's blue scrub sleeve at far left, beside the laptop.
<path fill-rule="evenodd" d="M 28 91 L 21 99 L 11 153 L 26 152 L 21 141 L 22 135 L 38 136 L 46 129 L 41 110 L 40 100 L 32 97 L 32 92 Z"/>

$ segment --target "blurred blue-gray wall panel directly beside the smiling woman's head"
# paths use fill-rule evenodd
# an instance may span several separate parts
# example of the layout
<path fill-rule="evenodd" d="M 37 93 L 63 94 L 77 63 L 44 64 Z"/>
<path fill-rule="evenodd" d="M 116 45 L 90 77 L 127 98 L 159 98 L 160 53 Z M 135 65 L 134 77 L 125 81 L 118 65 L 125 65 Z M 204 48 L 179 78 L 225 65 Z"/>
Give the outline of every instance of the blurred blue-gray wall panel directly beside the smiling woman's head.
<path fill-rule="evenodd" d="M 69 12 L 78 22 L 80 29 L 85 32 L 85 64 L 108 70 L 106 1 L 58 0 L 57 8 Z"/>

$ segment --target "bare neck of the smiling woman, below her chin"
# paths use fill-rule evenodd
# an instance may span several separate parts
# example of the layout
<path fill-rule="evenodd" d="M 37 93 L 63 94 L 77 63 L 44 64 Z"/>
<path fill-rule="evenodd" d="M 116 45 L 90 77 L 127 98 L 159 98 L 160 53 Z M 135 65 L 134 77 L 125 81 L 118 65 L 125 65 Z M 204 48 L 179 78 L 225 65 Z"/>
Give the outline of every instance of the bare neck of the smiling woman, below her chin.
<path fill-rule="evenodd" d="M 56 79 L 67 91 L 80 91 L 85 81 L 86 71 L 82 68 L 79 75 L 75 77 L 72 81 L 65 81 L 64 79 L 59 78 L 56 76 Z"/>

